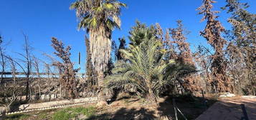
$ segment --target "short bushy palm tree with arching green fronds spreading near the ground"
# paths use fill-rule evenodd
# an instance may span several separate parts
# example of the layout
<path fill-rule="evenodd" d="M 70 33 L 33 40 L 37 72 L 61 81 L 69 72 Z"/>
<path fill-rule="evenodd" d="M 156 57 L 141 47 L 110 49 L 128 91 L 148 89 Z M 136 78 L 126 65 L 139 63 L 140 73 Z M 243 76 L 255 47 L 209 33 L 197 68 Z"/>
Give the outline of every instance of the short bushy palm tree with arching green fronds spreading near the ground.
<path fill-rule="evenodd" d="M 105 86 L 109 89 L 125 89 L 133 86 L 138 96 L 154 102 L 163 86 L 194 71 L 194 66 L 166 59 L 168 51 L 157 38 L 153 27 L 137 24 L 129 36 L 131 44 L 122 49 L 124 59 L 117 61 L 113 74 L 108 76 Z"/>

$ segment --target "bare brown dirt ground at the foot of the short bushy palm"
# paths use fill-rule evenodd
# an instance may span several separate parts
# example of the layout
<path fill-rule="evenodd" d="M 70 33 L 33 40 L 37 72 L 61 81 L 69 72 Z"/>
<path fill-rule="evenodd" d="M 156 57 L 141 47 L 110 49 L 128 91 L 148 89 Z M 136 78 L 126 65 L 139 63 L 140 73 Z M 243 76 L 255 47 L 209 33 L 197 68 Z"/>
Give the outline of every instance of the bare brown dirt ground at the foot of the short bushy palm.
<path fill-rule="evenodd" d="M 150 104 L 143 104 L 143 101 L 138 98 L 125 98 L 118 99 L 108 106 L 98 109 L 98 113 L 92 120 L 168 120 L 174 119 L 174 106 L 172 104 L 173 97 L 161 98 L 156 106 Z M 176 106 L 182 111 L 187 119 L 196 119 L 200 114 L 205 111 L 205 106 L 202 98 L 195 98 L 189 100 L 189 97 L 176 98 Z M 212 103 L 210 103 L 212 102 Z M 207 106 L 211 106 L 214 101 L 209 100 Z M 178 114 L 179 119 L 184 119 L 181 114 Z"/>

